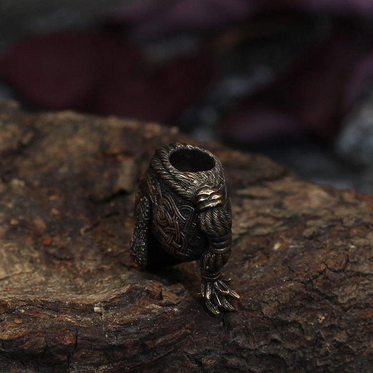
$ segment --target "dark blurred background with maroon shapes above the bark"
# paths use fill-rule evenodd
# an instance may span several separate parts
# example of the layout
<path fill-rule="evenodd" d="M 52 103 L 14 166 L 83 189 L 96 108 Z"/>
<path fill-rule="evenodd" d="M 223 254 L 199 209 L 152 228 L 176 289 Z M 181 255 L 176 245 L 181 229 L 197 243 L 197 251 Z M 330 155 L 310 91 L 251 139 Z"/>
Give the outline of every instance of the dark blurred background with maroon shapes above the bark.
<path fill-rule="evenodd" d="M 4 99 L 178 126 L 373 193 L 373 0 L 1 0 Z"/>

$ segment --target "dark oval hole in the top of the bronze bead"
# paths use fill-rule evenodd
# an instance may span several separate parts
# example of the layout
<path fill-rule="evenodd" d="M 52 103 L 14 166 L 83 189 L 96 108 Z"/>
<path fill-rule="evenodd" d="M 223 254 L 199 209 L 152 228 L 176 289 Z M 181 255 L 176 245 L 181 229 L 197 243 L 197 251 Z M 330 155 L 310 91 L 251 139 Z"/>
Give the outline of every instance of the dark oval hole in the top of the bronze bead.
<path fill-rule="evenodd" d="M 198 149 L 179 149 L 170 155 L 171 164 L 182 172 L 208 171 L 215 166 L 214 159 Z"/>

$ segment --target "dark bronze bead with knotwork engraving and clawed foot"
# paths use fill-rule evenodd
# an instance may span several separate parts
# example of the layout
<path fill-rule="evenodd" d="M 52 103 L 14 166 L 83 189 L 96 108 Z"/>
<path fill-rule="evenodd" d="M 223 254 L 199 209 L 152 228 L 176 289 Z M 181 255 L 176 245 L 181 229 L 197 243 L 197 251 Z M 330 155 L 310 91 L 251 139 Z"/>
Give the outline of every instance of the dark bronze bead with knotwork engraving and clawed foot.
<path fill-rule="evenodd" d="M 174 143 L 156 150 L 136 195 L 130 252 L 141 268 L 199 260 L 201 294 L 214 314 L 233 310 L 220 274 L 232 246 L 232 215 L 223 167 L 210 152 Z"/>

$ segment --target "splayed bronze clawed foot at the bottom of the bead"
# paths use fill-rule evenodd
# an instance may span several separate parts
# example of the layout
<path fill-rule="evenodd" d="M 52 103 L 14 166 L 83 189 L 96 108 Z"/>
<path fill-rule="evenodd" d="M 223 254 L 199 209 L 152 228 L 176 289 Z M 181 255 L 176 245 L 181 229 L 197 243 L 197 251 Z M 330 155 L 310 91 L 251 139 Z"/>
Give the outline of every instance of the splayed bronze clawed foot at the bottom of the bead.
<path fill-rule="evenodd" d="M 227 299 L 227 297 L 239 298 L 240 296 L 233 290 L 231 290 L 222 279 L 215 281 L 202 280 L 201 293 L 205 299 L 207 309 L 217 315 L 219 308 L 223 308 L 227 311 L 235 309 L 234 305 Z"/>

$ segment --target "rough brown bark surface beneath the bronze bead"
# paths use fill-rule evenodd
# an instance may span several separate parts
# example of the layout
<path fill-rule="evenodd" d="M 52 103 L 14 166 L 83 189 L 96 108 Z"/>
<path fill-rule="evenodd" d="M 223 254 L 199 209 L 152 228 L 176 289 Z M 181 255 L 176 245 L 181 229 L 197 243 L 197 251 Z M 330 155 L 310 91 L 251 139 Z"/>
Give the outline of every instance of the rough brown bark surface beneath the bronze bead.
<path fill-rule="evenodd" d="M 371 372 L 373 196 L 271 160 L 223 163 L 237 311 L 211 316 L 197 263 L 142 272 L 134 191 L 176 129 L 0 107 L 0 372 Z"/>

